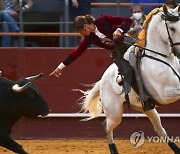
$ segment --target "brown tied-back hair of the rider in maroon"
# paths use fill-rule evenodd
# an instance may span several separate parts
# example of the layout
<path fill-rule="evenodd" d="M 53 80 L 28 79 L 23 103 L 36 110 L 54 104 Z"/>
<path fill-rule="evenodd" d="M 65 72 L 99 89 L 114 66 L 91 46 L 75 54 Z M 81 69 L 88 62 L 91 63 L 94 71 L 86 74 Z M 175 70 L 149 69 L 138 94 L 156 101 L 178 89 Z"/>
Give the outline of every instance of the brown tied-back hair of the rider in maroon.
<path fill-rule="evenodd" d="M 83 29 L 84 27 L 84 24 L 92 24 L 94 23 L 95 21 L 95 18 L 91 15 L 85 15 L 85 16 L 77 16 L 75 19 L 74 19 L 74 29 L 75 31 L 79 32 L 80 30 Z"/>

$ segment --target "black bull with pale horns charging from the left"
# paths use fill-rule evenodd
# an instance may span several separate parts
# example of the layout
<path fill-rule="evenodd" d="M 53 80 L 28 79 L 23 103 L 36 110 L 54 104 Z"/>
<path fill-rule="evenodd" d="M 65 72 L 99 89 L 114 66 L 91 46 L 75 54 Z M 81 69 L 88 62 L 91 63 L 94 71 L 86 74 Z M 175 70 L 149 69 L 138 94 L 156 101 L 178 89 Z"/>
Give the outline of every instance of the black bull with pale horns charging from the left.
<path fill-rule="evenodd" d="M 10 137 L 12 126 L 21 117 L 34 118 L 50 112 L 47 102 L 31 82 L 42 74 L 20 79 L 17 82 L 0 76 L 0 146 L 15 153 L 27 154 L 23 147 Z"/>

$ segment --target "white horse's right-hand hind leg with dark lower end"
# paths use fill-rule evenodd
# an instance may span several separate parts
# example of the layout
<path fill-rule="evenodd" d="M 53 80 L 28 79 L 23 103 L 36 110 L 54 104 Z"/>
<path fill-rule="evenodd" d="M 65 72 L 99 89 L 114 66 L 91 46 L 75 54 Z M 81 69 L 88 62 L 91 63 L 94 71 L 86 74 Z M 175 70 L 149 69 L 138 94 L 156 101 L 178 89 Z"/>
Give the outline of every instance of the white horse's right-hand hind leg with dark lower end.
<path fill-rule="evenodd" d="M 153 124 L 155 132 L 160 137 L 164 137 L 165 139 L 167 139 L 169 147 L 174 151 L 175 154 L 180 154 L 180 148 L 168 138 L 165 129 L 162 127 L 161 118 L 156 109 L 149 110 L 145 112 L 145 114 L 148 116 L 149 120 Z"/>

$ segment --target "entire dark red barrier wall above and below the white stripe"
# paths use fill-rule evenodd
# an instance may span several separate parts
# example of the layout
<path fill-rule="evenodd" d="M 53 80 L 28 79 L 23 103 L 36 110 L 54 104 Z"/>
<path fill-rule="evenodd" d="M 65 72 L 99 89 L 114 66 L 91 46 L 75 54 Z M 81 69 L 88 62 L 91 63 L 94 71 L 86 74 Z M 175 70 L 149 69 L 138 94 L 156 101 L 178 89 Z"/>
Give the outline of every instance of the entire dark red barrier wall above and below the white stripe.
<path fill-rule="evenodd" d="M 110 65 L 109 52 L 104 49 L 88 49 L 80 58 L 63 70 L 60 78 L 49 77 L 61 60 L 72 49 L 60 48 L 1 48 L 0 70 L 12 80 L 20 77 L 44 73 L 36 84 L 51 106 L 51 113 L 77 113 L 77 102 L 81 94 L 72 89 L 87 89 L 83 84 L 92 84 L 100 79 Z M 112 102 L 113 103 L 113 102 Z M 159 107 L 161 113 L 179 113 L 179 103 Z M 125 112 L 129 111 L 125 107 Z M 130 110 L 130 113 L 137 113 Z M 37 118 L 21 119 L 13 127 L 16 138 L 97 138 L 104 137 L 101 122 L 97 118 L 81 122 L 81 118 Z M 162 118 L 169 135 L 179 135 L 179 118 Z M 128 138 L 135 131 L 144 131 L 145 135 L 155 135 L 153 126 L 147 118 L 123 118 L 122 125 L 115 131 L 115 137 Z"/>

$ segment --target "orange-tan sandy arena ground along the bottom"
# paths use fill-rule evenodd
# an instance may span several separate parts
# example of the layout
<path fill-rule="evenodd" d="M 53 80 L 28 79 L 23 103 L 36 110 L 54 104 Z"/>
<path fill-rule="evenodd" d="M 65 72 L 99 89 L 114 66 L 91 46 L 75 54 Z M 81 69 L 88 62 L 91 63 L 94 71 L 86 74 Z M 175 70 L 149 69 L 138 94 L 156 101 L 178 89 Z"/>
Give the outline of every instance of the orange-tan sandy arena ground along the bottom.
<path fill-rule="evenodd" d="M 106 140 L 17 140 L 29 154 L 109 154 Z M 129 140 L 116 140 L 121 154 L 173 154 L 165 143 L 133 148 Z M 179 144 L 180 145 L 180 144 Z M 13 154 L 0 147 L 0 154 Z"/>

